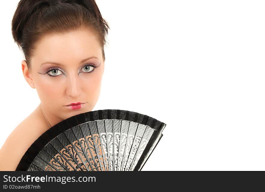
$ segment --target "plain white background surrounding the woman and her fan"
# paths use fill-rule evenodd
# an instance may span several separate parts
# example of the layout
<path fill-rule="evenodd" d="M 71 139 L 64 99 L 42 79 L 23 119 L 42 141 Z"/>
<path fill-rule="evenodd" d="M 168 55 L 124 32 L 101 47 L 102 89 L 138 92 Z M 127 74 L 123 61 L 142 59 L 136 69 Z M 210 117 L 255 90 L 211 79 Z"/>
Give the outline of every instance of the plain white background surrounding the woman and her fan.
<path fill-rule="evenodd" d="M 11 35 L 18 2 L 0 8 L 0 146 L 40 102 Z M 167 124 L 143 171 L 265 170 L 264 1 L 96 2 L 111 29 L 93 110 Z"/>

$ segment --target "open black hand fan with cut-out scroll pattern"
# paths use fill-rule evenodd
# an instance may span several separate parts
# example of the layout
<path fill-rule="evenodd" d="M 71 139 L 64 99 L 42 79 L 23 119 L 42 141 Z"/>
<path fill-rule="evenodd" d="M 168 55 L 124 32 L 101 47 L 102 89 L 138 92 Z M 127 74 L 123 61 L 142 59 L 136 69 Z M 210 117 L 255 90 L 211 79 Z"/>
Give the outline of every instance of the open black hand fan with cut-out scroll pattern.
<path fill-rule="evenodd" d="M 118 109 L 77 114 L 39 136 L 16 171 L 140 171 L 165 126 Z"/>

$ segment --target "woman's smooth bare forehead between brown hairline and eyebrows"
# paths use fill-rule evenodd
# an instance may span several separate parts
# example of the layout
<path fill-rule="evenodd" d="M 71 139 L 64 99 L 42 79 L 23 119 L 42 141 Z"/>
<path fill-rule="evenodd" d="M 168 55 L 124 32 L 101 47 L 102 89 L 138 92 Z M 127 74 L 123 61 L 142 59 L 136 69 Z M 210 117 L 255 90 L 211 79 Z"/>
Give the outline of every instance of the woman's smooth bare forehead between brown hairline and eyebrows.
<path fill-rule="evenodd" d="M 60 63 L 69 60 L 80 62 L 92 56 L 98 59 L 102 57 L 97 38 L 89 32 L 75 31 L 46 35 L 37 44 L 32 59 L 38 61 L 38 63 Z M 93 60 L 97 58 L 93 58 Z"/>

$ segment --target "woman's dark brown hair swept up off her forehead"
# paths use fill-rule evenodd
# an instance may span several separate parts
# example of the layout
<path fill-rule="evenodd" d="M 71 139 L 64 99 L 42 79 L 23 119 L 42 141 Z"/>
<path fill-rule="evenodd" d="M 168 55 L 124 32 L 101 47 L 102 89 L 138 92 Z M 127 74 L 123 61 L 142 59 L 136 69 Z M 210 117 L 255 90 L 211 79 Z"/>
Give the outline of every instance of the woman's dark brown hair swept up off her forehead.
<path fill-rule="evenodd" d="M 12 19 L 14 42 L 23 50 L 29 69 L 30 57 L 42 36 L 78 29 L 96 35 L 105 61 L 105 35 L 110 28 L 95 0 L 20 0 Z"/>

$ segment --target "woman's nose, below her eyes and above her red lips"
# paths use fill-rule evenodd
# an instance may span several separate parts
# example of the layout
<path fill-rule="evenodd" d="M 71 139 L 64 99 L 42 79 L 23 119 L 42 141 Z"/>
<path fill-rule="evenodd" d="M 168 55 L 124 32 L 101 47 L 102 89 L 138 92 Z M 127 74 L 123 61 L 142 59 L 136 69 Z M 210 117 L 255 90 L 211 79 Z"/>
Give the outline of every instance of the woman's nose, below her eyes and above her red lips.
<path fill-rule="evenodd" d="M 67 76 L 66 94 L 71 97 L 78 97 L 81 94 L 81 87 L 77 74 Z"/>

